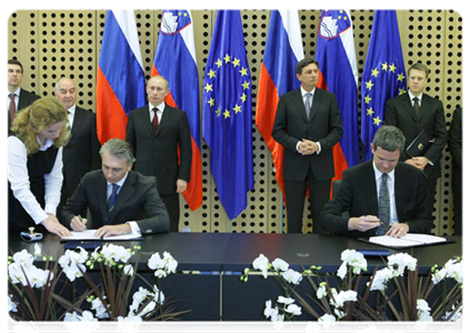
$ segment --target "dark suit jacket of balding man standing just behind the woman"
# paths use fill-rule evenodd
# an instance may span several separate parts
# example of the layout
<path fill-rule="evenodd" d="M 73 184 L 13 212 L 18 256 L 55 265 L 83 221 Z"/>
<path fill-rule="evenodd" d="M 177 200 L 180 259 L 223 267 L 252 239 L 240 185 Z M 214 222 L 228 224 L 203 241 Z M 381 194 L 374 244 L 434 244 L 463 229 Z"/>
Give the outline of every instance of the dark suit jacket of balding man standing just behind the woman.
<path fill-rule="evenodd" d="M 99 169 L 100 142 L 97 135 L 97 121 L 93 112 L 76 108 L 69 143 L 63 148 L 62 194 L 70 198 L 81 178 L 89 171 Z"/>

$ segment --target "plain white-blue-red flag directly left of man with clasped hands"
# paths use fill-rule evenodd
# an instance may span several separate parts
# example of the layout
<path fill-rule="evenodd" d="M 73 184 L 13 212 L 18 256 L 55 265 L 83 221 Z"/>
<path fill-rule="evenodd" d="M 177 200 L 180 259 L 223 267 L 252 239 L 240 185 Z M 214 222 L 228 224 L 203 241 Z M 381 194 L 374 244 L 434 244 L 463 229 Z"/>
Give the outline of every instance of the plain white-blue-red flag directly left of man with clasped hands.
<path fill-rule="evenodd" d="M 302 34 L 297 9 L 272 9 L 264 58 L 261 64 L 256 123 L 271 151 L 276 179 L 283 198 L 286 198 L 284 148 L 272 139 L 271 132 L 280 95 L 300 87 L 300 81 L 296 75 L 296 65 L 302 59 Z"/>

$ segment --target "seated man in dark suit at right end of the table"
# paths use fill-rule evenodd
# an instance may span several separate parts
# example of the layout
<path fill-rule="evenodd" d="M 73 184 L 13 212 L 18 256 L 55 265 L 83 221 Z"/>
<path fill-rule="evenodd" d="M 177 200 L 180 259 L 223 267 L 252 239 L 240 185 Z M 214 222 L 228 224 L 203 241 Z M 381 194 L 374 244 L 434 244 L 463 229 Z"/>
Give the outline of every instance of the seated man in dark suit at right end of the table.
<path fill-rule="evenodd" d="M 373 160 L 343 172 L 339 191 L 320 215 L 327 232 L 356 238 L 431 232 L 426 180 L 419 169 L 399 162 L 403 147 L 404 135 L 396 127 L 377 131 Z M 344 211 L 351 218 L 342 216 Z"/>

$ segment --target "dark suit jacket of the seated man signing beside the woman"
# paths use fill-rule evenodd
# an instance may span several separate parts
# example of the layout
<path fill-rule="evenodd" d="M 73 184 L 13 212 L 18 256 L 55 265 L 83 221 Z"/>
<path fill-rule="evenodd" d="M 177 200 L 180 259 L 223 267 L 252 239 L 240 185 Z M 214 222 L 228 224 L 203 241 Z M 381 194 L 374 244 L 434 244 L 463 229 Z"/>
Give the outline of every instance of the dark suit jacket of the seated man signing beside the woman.
<path fill-rule="evenodd" d="M 93 228 L 136 221 L 142 234 L 170 230 L 170 218 L 158 194 L 157 180 L 134 171 L 129 171 L 108 223 L 106 222 L 107 180 L 101 170 L 91 171 L 81 179 L 72 198 L 60 212 L 60 221 L 69 226 L 73 216 L 80 214 L 87 206 L 91 213 Z"/>

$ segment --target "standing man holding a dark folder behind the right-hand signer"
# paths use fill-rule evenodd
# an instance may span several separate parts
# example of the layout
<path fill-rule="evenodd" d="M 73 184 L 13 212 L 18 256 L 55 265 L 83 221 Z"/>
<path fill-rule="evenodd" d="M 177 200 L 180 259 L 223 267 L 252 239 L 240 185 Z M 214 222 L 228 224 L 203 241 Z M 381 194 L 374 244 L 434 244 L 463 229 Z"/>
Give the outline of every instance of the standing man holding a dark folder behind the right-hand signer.
<path fill-rule="evenodd" d="M 400 161 L 424 170 L 432 165 L 431 173 L 426 180 L 428 188 L 429 209 L 432 214 L 434 193 L 438 178 L 441 176 L 440 160 L 446 147 L 447 129 L 442 102 L 423 93 L 428 84 L 429 70 L 423 63 L 414 63 L 408 70 L 408 93 L 392 98 L 386 103 L 384 123 L 399 128 L 406 138 L 404 147 L 426 130 L 433 143 L 423 157 L 410 158 L 406 151 L 401 152 Z"/>

